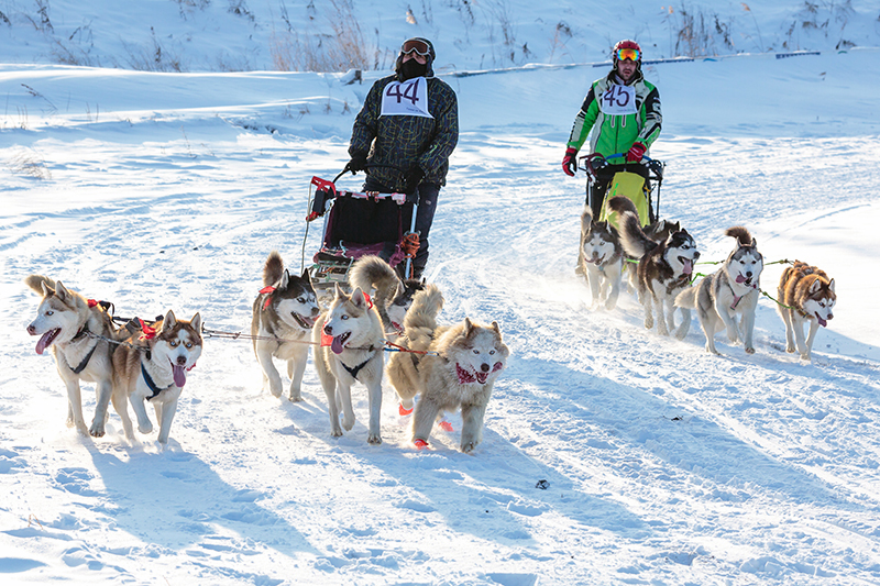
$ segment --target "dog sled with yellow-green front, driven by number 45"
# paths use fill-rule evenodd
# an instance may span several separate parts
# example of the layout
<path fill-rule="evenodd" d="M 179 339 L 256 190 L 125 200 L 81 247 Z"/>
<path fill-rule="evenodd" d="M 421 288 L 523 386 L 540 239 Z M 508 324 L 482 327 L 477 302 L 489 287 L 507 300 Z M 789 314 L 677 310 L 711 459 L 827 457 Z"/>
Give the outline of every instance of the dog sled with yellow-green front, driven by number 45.
<path fill-rule="evenodd" d="M 608 209 L 608 200 L 615 196 L 624 196 L 636 206 L 641 225 L 648 225 L 660 218 L 660 186 L 663 183 L 664 165 L 647 156 L 638 163 L 620 164 L 615 161 L 625 161 L 625 153 L 607 157 L 592 153 L 581 157 L 581 168 L 587 176 L 586 200 L 592 203 L 593 197 L 597 196 L 594 187 L 600 181 L 607 181 L 608 188 L 597 220 L 608 220 L 618 228 L 617 213 Z"/>

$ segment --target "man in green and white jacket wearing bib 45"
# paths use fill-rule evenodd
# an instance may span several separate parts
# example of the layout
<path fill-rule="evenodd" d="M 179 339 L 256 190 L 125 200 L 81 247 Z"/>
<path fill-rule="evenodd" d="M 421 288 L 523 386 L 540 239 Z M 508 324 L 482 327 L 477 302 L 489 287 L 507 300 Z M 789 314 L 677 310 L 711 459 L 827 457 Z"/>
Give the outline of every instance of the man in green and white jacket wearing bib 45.
<path fill-rule="evenodd" d="M 590 131 L 590 153 L 605 157 L 625 154 L 608 161 L 609 165 L 597 174 L 591 186 L 588 203 L 593 218 L 598 219 L 602 203 L 614 174 L 627 163 L 638 163 L 660 134 L 662 114 L 657 88 L 641 75 L 641 48 L 635 41 L 620 41 L 612 53 L 614 68 L 593 82 L 581 111 L 574 119 L 562 170 L 571 177 L 578 170 L 578 152 L 586 142 Z M 627 170 L 647 172 L 641 165 L 630 165 Z"/>

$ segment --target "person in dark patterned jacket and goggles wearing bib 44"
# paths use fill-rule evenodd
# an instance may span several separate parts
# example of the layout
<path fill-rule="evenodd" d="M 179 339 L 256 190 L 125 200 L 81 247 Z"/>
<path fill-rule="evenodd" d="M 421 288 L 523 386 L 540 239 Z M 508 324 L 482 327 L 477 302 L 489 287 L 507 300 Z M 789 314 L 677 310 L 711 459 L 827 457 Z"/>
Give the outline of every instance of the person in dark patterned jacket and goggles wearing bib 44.
<path fill-rule="evenodd" d="M 366 170 L 364 191 L 418 196 L 414 278 L 421 276 L 428 263 L 437 197 L 459 141 L 455 92 L 433 76 L 435 57 L 427 38 L 403 44 L 394 75 L 373 84 L 354 120 L 346 165 L 351 172 Z"/>

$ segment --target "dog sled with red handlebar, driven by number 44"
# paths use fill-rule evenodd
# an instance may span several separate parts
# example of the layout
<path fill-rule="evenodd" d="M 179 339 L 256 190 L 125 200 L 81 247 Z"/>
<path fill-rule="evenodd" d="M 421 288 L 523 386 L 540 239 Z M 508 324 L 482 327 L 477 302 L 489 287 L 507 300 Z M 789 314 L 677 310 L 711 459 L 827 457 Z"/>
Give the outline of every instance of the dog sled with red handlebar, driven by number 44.
<path fill-rule="evenodd" d="M 358 258 L 374 254 L 403 277 L 411 274 L 419 247 L 416 233 L 418 196 L 406 194 L 359 192 L 338 189 L 336 181 L 312 177 L 308 223 L 323 218 L 321 247 L 309 267 L 311 284 L 319 296 L 336 284 L 348 290 L 349 270 Z M 404 226 L 408 224 L 408 230 Z"/>

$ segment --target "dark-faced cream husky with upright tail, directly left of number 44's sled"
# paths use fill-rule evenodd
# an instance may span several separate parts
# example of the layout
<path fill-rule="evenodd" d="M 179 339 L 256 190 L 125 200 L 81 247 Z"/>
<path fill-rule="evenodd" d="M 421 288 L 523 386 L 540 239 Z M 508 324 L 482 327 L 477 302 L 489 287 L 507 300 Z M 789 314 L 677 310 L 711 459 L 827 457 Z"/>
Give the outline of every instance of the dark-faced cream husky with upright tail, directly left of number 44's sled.
<path fill-rule="evenodd" d="M 254 301 L 251 335 L 254 354 L 263 368 L 263 388 L 268 383 L 273 397 L 282 396 L 282 377 L 272 357 L 287 361 L 290 389 L 287 398 L 301 401 L 300 386 L 306 372 L 311 328 L 320 309 L 308 270 L 293 276 L 282 256 L 273 251 L 263 267 L 263 286 Z"/>

